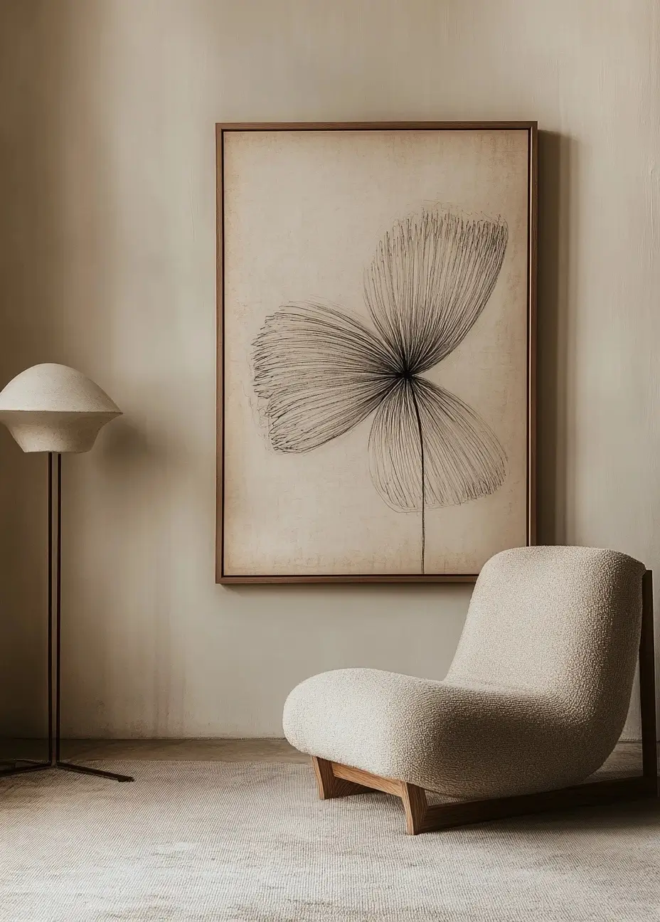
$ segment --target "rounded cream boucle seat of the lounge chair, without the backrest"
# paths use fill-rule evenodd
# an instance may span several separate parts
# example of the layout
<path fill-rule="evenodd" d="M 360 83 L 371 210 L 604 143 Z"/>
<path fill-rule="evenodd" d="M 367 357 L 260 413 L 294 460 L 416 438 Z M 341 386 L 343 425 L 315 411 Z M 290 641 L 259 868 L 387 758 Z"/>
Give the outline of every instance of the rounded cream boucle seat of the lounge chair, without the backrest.
<path fill-rule="evenodd" d="M 418 679 L 381 669 L 323 672 L 285 704 L 297 749 L 449 797 L 503 797 L 582 781 L 616 739 L 524 688 Z"/>

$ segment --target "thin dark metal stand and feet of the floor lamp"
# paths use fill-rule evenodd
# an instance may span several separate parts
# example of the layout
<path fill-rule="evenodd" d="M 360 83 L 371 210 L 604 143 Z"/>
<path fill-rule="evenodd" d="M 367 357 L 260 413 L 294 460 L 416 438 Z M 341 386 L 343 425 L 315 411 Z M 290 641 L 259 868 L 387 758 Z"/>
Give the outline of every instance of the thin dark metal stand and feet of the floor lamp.
<path fill-rule="evenodd" d="M 53 461 L 56 477 L 53 478 Z M 53 491 L 53 480 L 55 489 Z M 54 515 L 53 515 L 54 509 Z M 53 580 L 54 572 L 54 580 Z M 63 769 L 79 774 L 99 774 L 113 781 L 133 781 L 128 774 L 103 772 L 74 762 L 64 762 L 60 757 L 60 636 L 62 615 L 62 455 L 48 453 L 48 762 L 18 760 L 9 768 L 0 769 L 0 777 L 44 769 Z M 54 592 L 53 592 L 54 585 Z M 53 606 L 54 600 L 54 606 Z M 54 616 L 54 617 L 53 617 Z M 54 622 L 54 623 L 53 623 Z M 54 628 L 54 631 L 53 631 Z M 54 635 L 54 644 L 53 644 Z M 54 683 L 53 683 L 54 671 Z"/>

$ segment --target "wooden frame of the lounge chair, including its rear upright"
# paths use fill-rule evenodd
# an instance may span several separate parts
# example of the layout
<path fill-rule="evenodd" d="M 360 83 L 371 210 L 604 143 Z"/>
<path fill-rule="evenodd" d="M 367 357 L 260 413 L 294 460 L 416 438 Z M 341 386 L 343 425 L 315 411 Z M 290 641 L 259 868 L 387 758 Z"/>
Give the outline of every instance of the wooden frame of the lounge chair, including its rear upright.
<path fill-rule="evenodd" d="M 429 804 L 426 791 L 396 778 L 384 778 L 359 768 L 312 756 L 319 797 L 343 798 L 349 794 L 383 791 L 401 798 L 409 835 L 430 833 L 470 822 L 501 820 L 525 813 L 597 806 L 618 800 L 657 798 L 657 743 L 655 739 L 653 576 L 642 577 L 642 630 L 640 635 L 640 704 L 642 710 L 642 774 L 609 781 L 592 781 L 560 790 L 541 791 L 508 798 L 459 800 Z"/>

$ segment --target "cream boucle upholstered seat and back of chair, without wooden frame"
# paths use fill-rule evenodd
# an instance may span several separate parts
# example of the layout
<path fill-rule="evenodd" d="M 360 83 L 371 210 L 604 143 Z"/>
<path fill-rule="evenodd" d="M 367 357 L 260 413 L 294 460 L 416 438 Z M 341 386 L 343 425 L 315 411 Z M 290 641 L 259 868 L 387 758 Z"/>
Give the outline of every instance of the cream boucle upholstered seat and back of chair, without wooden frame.
<path fill-rule="evenodd" d="M 289 694 L 286 737 L 451 797 L 582 781 L 626 719 L 643 573 L 613 550 L 505 550 L 477 579 L 445 680 L 357 668 L 312 676 Z"/>

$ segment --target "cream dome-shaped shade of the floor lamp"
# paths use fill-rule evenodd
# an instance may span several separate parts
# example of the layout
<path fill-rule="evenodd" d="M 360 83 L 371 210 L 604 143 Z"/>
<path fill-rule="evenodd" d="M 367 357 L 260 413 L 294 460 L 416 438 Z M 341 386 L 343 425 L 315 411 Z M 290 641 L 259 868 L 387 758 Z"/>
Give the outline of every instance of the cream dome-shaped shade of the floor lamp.
<path fill-rule="evenodd" d="M 66 365 L 34 365 L 0 392 L 0 421 L 24 452 L 88 452 L 121 415 L 98 384 Z"/>

